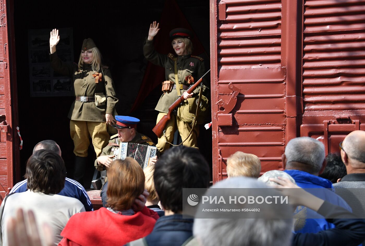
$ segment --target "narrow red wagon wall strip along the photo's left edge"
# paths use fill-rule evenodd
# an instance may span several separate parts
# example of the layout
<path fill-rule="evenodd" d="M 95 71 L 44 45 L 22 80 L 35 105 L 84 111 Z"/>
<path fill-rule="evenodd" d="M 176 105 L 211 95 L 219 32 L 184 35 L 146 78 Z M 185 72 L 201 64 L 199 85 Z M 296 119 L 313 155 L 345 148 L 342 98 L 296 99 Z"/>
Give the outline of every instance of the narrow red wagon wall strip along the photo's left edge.
<path fill-rule="evenodd" d="M 16 119 L 13 115 L 16 107 L 16 83 L 11 82 L 11 73 L 14 71 L 9 61 L 11 40 L 8 38 L 7 3 L 0 0 L 0 200 L 2 201 L 9 189 L 13 186 L 14 170 L 19 165 L 19 145 Z M 15 63 L 14 63 L 15 65 Z M 14 120 L 15 119 L 15 120 Z M 17 136 L 17 135 L 16 135 Z M 14 147 L 16 146 L 16 147 Z M 18 162 L 16 161 L 18 160 Z"/>

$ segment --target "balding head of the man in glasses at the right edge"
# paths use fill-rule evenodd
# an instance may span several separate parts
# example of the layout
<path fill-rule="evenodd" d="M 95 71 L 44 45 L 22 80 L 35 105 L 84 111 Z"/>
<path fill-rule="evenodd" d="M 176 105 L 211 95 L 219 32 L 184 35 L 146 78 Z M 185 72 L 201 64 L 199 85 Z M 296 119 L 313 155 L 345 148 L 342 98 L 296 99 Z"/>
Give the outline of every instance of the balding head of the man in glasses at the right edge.
<path fill-rule="evenodd" d="M 353 131 L 342 142 L 343 151 L 351 165 L 365 168 L 365 131 Z M 352 159 L 352 161 L 351 161 Z"/>

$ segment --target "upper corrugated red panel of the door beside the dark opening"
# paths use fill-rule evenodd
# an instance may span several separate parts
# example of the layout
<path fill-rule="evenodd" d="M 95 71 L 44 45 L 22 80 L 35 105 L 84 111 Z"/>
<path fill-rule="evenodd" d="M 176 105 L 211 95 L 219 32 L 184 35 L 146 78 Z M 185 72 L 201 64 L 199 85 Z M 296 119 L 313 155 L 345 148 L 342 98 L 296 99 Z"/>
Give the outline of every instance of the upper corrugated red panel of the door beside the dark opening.
<path fill-rule="evenodd" d="M 280 67 L 281 1 L 220 3 L 218 62 L 222 69 Z"/>

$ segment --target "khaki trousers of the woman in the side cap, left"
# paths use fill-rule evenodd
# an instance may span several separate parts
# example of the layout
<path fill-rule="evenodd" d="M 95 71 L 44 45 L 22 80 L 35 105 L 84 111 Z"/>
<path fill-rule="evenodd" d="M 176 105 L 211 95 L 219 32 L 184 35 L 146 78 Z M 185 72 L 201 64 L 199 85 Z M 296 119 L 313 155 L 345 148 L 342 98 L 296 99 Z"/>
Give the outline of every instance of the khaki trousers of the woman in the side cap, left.
<path fill-rule="evenodd" d="M 70 135 L 75 145 L 73 153 L 80 157 L 88 156 L 90 136 L 96 157 L 99 157 L 103 148 L 107 146 L 110 140 L 106 122 L 70 120 Z"/>

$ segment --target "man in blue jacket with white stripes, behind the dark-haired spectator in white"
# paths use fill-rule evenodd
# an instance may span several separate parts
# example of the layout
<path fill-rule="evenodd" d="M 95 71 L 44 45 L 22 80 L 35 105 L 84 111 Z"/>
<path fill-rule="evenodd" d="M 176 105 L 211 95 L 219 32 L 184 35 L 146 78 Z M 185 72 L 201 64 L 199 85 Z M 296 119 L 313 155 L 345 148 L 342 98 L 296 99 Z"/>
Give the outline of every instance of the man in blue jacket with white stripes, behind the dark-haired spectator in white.
<path fill-rule="evenodd" d="M 42 142 L 37 143 L 34 146 L 33 153 L 37 150 L 42 150 L 42 149 L 54 151 L 59 156 L 61 156 L 61 149 L 59 148 L 58 144 L 53 140 L 44 140 Z M 27 180 L 23 180 L 15 184 L 14 187 L 9 192 L 9 194 L 20 193 L 25 191 L 27 191 Z M 82 187 L 82 185 L 79 182 L 71 178 L 65 179 L 65 187 L 57 195 L 74 197 L 80 200 L 82 204 L 84 204 L 85 211 L 94 211 L 89 196 L 86 193 L 84 187 Z"/>

